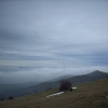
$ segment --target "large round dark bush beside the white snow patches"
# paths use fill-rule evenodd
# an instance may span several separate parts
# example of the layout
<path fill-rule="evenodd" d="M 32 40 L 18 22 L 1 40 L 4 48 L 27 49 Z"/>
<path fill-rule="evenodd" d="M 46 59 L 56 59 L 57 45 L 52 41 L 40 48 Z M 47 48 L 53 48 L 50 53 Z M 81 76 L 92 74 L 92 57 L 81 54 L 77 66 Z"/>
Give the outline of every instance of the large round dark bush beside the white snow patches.
<path fill-rule="evenodd" d="M 62 80 L 60 81 L 60 86 L 59 86 L 59 91 L 67 91 L 70 90 L 72 86 L 71 82 L 67 81 L 67 80 Z"/>

